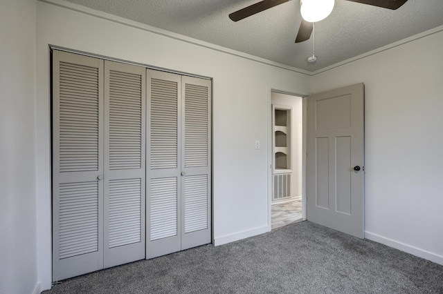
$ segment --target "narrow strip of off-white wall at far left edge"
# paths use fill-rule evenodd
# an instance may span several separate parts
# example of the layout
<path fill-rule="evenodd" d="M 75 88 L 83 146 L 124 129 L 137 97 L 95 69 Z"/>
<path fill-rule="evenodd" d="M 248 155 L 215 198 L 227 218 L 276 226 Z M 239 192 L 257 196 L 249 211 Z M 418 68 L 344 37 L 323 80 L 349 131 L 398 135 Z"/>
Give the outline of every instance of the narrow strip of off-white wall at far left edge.
<path fill-rule="evenodd" d="M 0 293 L 36 293 L 35 1 L 0 7 Z"/>

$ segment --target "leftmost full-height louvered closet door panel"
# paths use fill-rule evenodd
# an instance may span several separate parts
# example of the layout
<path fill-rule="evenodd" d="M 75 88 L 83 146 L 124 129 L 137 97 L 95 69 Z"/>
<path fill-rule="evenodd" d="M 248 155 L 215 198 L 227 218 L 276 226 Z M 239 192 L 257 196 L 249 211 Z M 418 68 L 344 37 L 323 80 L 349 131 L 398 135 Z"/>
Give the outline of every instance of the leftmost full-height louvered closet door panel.
<path fill-rule="evenodd" d="M 53 51 L 53 280 L 103 266 L 103 61 Z"/>

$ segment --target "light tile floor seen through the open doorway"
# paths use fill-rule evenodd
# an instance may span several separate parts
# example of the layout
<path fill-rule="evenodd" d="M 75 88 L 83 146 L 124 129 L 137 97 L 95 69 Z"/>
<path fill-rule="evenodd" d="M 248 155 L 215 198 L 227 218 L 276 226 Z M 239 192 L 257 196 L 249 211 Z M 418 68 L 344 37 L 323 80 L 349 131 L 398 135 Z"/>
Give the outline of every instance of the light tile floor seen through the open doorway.
<path fill-rule="evenodd" d="M 271 228 L 280 228 L 302 219 L 302 200 L 271 205 Z"/>

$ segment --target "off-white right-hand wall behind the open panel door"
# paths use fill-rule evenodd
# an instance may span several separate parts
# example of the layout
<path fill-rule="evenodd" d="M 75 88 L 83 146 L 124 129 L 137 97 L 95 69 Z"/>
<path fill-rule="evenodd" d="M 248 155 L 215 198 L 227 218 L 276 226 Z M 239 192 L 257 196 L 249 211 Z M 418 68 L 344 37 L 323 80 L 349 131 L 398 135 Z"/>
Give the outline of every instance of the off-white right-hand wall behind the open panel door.
<path fill-rule="evenodd" d="M 443 27 L 426 34 L 312 89 L 365 84 L 365 237 L 443 264 Z"/>

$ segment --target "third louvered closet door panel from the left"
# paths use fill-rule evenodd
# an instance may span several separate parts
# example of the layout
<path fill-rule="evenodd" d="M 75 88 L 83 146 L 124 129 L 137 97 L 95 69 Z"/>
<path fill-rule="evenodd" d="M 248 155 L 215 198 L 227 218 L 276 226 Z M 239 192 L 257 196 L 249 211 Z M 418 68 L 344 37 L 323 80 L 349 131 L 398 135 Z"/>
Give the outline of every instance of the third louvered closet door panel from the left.
<path fill-rule="evenodd" d="M 181 76 L 147 70 L 147 246 L 152 258 L 180 251 Z"/>

